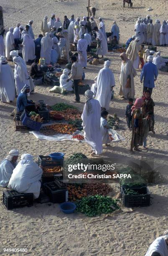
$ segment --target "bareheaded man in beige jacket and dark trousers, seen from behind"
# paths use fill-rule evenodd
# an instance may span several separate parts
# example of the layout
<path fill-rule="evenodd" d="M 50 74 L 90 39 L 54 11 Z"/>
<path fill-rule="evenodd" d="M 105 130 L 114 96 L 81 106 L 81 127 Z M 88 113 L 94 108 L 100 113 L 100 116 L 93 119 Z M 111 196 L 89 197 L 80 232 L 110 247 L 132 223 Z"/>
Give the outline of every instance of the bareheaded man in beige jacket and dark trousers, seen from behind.
<path fill-rule="evenodd" d="M 72 61 L 72 68 L 71 68 L 71 76 L 66 82 L 69 82 L 69 80 L 73 79 L 74 80 L 74 93 L 76 96 L 76 99 L 74 102 L 80 102 L 80 96 L 79 96 L 79 91 L 78 91 L 78 84 L 79 81 L 81 80 L 82 74 L 83 74 L 83 69 L 81 67 L 81 64 L 77 62 L 77 59 L 75 56 L 71 57 Z"/>

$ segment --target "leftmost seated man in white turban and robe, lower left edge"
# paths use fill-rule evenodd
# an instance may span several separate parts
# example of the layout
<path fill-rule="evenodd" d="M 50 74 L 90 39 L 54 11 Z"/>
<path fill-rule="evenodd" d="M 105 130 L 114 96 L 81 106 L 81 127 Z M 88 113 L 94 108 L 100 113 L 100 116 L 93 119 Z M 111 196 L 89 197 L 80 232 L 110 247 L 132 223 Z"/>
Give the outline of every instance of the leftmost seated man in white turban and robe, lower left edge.
<path fill-rule="evenodd" d="M 3 161 L 0 163 L 0 186 L 7 187 L 11 175 L 13 174 L 13 170 L 17 165 L 19 151 L 13 149 L 9 151 L 8 156 L 5 157 Z"/>

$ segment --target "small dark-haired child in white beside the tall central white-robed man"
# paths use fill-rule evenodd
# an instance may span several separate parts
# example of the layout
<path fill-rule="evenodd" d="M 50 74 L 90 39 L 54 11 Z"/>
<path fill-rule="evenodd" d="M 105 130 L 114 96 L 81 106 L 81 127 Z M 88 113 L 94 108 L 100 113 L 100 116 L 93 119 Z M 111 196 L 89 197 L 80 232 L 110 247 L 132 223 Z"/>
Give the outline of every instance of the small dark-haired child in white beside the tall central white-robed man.
<path fill-rule="evenodd" d="M 109 132 L 108 132 L 108 129 L 110 127 L 107 124 L 107 116 L 108 116 L 108 112 L 106 110 L 102 110 L 101 119 L 100 119 L 100 128 L 102 133 L 102 144 L 105 144 L 105 146 L 109 146 L 108 143 L 110 143 Z"/>

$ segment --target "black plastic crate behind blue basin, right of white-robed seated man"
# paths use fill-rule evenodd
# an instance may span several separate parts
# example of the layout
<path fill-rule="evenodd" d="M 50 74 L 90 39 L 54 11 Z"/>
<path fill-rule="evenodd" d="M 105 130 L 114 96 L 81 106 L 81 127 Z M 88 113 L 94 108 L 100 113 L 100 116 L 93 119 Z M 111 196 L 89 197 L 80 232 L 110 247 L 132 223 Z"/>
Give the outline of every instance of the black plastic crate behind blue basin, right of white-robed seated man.
<path fill-rule="evenodd" d="M 68 190 L 66 187 L 61 187 L 56 181 L 44 184 L 44 192 L 50 197 L 52 203 L 62 203 L 68 201 Z"/>

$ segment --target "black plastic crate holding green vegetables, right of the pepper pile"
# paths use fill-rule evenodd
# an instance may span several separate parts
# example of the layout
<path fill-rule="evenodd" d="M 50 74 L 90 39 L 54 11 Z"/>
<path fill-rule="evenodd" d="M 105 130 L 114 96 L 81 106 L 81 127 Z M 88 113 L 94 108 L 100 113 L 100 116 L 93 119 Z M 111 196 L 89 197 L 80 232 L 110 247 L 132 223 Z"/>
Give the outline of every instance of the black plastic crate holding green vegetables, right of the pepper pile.
<path fill-rule="evenodd" d="M 121 188 L 122 202 L 125 207 L 137 207 L 137 206 L 149 206 L 150 205 L 150 190 L 148 187 L 135 188 L 130 187 L 135 192 L 139 192 L 140 195 L 128 195 L 125 194 L 125 188 Z"/>

